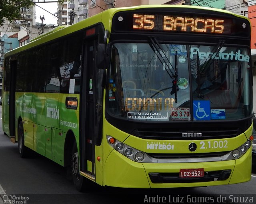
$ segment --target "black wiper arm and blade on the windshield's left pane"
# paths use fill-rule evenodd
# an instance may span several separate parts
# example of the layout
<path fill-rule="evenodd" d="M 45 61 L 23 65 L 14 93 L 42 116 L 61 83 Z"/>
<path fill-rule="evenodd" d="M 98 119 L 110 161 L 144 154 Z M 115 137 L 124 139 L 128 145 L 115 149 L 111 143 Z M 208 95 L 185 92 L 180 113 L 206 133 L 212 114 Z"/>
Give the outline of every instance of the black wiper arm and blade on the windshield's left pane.
<path fill-rule="evenodd" d="M 172 66 L 172 64 L 170 63 L 170 61 L 168 60 L 164 49 L 161 47 L 160 43 L 158 42 L 158 40 L 155 37 L 150 37 L 150 41 L 151 41 L 151 46 L 152 49 L 156 51 L 156 56 L 158 57 L 159 61 L 162 63 L 162 65 L 166 65 L 167 69 L 166 72 L 168 73 L 168 75 L 170 76 L 170 78 L 173 78 L 174 80 L 172 80 L 172 84 L 173 84 L 173 90 L 171 92 L 171 95 L 173 93 L 175 93 L 175 102 L 177 103 L 177 91 L 178 91 L 178 82 L 177 82 L 177 78 L 178 78 L 178 63 L 177 63 L 177 52 L 175 54 L 175 67 Z M 164 56 L 162 56 L 164 55 Z M 170 66 L 169 66 L 170 65 Z"/>

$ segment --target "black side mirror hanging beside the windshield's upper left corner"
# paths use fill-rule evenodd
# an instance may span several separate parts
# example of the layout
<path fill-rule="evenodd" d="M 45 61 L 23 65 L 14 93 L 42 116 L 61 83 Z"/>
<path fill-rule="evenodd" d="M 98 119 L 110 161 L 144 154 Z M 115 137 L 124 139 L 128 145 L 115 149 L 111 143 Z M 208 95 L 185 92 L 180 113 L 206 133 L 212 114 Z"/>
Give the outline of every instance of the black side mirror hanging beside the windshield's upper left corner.
<path fill-rule="evenodd" d="M 109 45 L 106 43 L 98 44 L 96 53 L 96 63 L 98 69 L 108 69 Z"/>

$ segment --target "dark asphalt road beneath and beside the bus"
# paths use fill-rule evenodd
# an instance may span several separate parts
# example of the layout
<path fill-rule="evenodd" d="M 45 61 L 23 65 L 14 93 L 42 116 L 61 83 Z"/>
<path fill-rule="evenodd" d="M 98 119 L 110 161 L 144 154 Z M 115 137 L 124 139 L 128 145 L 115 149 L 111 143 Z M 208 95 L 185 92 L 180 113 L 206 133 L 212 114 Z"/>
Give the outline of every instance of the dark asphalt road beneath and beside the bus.
<path fill-rule="evenodd" d="M 0 117 L 1 112 L 2 107 Z M 255 171 L 241 184 L 174 189 L 93 186 L 81 193 L 58 164 L 36 153 L 20 158 L 18 144 L 4 135 L 0 121 L 0 204 L 3 199 L 25 204 L 256 203 L 255 194 Z"/>

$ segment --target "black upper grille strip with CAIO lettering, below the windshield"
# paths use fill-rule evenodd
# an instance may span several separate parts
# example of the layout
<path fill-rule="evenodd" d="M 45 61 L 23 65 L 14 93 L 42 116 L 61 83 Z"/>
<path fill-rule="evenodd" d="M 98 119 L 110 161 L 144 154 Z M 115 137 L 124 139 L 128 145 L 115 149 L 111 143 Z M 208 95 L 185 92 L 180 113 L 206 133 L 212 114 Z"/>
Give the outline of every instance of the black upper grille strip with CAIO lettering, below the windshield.
<path fill-rule="evenodd" d="M 193 133 L 194 137 L 182 137 L 182 133 Z M 200 136 L 196 136 L 201 133 Z M 236 137 L 241 134 L 240 129 L 234 128 L 155 128 L 155 129 L 136 129 L 132 135 L 142 139 L 161 139 L 161 140 L 196 140 L 196 139 L 223 139 Z M 191 135 L 191 134 L 190 134 Z"/>

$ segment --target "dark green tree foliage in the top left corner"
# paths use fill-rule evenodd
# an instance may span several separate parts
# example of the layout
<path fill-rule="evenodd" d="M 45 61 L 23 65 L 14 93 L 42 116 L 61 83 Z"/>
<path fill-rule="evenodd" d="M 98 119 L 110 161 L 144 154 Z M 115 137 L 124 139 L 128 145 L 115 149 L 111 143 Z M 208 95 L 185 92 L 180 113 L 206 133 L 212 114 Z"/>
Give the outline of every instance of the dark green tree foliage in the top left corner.
<path fill-rule="evenodd" d="M 0 24 L 7 18 L 9 21 L 21 19 L 22 10 L 33 5 L 32 0 L 0 0 Z"/>

